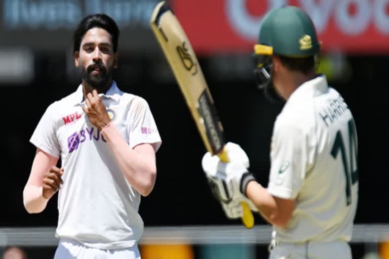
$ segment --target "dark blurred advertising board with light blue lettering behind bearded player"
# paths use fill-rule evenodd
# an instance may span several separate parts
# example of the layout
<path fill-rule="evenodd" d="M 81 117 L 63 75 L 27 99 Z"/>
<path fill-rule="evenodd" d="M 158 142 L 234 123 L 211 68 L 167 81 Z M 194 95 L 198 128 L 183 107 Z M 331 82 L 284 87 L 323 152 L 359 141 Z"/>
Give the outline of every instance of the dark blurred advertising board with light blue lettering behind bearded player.
<path fill-rule="evenodd" d="M 121 29 L 121 52 L 148 52 L 157 47 L 149 18 L 155 0 L 0 0 L 0 48 L 28 47 L 55 52 L 72 48 L 80 20 L 106 13 Z"/>

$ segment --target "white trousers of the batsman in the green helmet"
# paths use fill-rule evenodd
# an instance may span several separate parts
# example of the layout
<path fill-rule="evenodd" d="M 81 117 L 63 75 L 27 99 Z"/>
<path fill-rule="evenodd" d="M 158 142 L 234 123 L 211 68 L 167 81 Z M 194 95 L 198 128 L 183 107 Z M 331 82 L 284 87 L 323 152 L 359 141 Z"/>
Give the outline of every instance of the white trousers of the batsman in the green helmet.
<path fill-rule="evenodd" d="M 352 259 L 346 242 L 280 243 L 270 251 L 269 259 Z"/>

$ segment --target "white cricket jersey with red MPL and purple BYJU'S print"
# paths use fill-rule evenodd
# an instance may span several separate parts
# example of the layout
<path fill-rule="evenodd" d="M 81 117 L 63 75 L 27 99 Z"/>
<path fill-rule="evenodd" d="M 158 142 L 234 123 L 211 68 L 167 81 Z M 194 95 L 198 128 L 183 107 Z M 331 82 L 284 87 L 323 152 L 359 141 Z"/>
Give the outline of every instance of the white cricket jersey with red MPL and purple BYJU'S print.
<path fill-rule="evenodd" d="M 99 96 L 131 148 L 150 143 L 157 152 L 161 138 L 144 99 L 122 92 L 115 82 Z M 37 148 L 61 156 L 64 167 L 56 236 L 99 249 L 132 247 L 143 233 L 140 194 L 126 180 L 83 105 L 81 84 L 47 108 L 30 139 Z"/>

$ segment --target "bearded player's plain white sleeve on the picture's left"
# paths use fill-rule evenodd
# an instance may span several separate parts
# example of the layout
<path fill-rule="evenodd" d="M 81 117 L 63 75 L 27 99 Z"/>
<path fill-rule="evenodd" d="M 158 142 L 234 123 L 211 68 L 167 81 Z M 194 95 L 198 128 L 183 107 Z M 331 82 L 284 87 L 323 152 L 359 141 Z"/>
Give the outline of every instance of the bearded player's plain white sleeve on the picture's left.
<path fill-rule="evenodd" d="M 30 142 L 37 148 L 51 156 L 59 158 L 60 145 L 56 134 L 56 125 L 54 120 L 54 104 L 51 104 L 43 114 L 41 120 L 31 136 Z"/>

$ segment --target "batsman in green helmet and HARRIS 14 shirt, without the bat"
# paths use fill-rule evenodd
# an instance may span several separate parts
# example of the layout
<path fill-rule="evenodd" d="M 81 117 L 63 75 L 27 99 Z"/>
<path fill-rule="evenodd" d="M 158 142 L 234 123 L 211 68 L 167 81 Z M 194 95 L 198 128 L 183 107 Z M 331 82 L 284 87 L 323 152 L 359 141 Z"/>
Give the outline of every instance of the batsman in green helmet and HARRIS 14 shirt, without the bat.
<path fill-rule="evenodd" d="M 273 225 L 270 259 L 352 258 L 356 126 L 340 94 L 316 73 L 319 52 L 315 26 L 301 9 L 286 6 L 264 17 L 255 74 L 260 88 L 273 87 L 286 100 L 271 138 L 267 188 L 248 170 L 237 144 L 225 147 L 230 162 L 210 153 L 202 161 L 227 217 L 242 217 L 240 202 L 246 201 Z"/>

